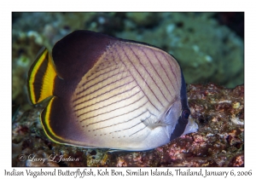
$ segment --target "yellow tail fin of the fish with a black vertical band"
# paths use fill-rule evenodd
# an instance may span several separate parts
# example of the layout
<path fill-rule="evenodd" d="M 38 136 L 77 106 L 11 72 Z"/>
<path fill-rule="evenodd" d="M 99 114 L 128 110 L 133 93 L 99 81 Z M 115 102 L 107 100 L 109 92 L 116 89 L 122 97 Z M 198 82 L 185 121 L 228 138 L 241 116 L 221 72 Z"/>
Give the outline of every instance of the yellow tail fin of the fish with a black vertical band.
<path fill-rule="evenodd" d="M 27 78 L 28 95 L 32 104 L 37 104 L 53 95 L 56 76 L 55 66 L 48 49 L 41 49 Z"/>

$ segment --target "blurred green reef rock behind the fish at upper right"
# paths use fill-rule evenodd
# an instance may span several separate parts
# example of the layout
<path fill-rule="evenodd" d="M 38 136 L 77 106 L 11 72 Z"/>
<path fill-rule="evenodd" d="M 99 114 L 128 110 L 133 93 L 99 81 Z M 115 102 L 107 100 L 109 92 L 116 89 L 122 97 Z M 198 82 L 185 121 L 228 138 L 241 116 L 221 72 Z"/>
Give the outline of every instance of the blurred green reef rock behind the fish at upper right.
<path fill-rule="evenodd" d="M 188 84 L 214 82 L 227 87 L 243 84 L 243 43 L 229 28 L 219 26 L 211 15 L 154 14 L 159 19 L 154 28 L 136 26 L 131 31 L 118 32 L 117 36 L 154 44 L 174 55 Z M 136 18 L 150 20 L 143 13 L 132 17 L 132 22 L 137 22 L 133 20 Z"/>

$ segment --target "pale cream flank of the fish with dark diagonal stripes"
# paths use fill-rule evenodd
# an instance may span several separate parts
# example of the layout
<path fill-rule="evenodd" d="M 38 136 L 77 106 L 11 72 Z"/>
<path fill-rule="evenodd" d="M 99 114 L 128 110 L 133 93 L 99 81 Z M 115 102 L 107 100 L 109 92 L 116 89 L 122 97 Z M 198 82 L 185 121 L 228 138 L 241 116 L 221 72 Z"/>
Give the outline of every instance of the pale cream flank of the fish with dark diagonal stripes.
<path fill-rule="evenodd" d="M 151 130 L 147 120 L 158 123 L 179 97 L 180 79 L 177 61 L 166 52 L 116 42 L 81 79 L 71 106 L 90 140 L 143 141 Z"/>

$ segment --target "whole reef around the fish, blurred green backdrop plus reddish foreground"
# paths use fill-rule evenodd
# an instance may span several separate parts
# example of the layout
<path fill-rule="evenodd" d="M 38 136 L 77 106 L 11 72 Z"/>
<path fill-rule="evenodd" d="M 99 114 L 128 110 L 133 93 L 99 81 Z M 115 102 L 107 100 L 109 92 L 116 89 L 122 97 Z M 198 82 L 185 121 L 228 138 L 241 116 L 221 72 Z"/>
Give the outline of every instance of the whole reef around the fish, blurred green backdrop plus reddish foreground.
<path fill-rule="evenodd" d="M 235 16 L 242 21 L 243 13 L 230 15 L 13 13 L 12 165 L 243 166 L 244 88 L 237 85 L 243 84 L 244 44 L 242 37 L 224 26 L 234 26 L 227 20 Z M 241 31 L 243 22 L 237 24 Z M 190 118 L 199 124 L 199 130 L 144 152 L 87 149 L 49 141 L 39 119 L 45 103 L 28 104 L 26 75 L 39 49 L 45 46 L 50 51 L 56 41 L 80 29 L 150 43 L 174 55 L 189 84 Z"/>

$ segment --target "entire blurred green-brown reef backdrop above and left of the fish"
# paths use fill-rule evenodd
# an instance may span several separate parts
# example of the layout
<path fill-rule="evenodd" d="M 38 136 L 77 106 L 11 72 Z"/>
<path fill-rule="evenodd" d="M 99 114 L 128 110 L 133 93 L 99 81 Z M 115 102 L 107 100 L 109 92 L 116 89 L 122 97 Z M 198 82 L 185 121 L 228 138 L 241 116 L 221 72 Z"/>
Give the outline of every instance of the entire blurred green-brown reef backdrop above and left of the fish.
<path fill-rule="evenodd" d="M 233 16 L 242 25 L 243 13 Z M 26 101 L 26 75 L 38 50 L 45 46 L 50 51 L 56 41 L 81 29 L 166 50 L 179 61 L 188 84 L 212 82 L 234 88 L 243 84 L 243 41 L 220 25 L 229 25 L 229 17 L 224 13 L 13 13 L 13 104 L 31 108 Z"/>

